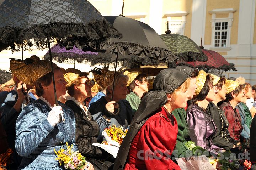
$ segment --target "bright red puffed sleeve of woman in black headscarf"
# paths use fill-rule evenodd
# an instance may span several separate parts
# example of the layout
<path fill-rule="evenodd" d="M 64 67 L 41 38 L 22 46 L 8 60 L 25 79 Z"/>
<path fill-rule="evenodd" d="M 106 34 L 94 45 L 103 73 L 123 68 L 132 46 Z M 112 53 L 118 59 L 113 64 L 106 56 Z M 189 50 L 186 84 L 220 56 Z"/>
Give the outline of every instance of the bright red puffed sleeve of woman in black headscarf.
<path fill-rule="evenodd" d="M 180 167 L 171 160 L 171 154 L 176 144 L 177 126 L 174 128 L 165 118 L 158 117 L 147 121 L 140 132 L 140 142 L 144 153 L 146 151 L 164 153 L 163 157 L 159 157 L 160 159 L 155 157 L 144 159 L 146 169 L 180 170 Z"/>

